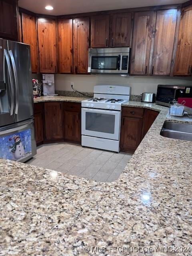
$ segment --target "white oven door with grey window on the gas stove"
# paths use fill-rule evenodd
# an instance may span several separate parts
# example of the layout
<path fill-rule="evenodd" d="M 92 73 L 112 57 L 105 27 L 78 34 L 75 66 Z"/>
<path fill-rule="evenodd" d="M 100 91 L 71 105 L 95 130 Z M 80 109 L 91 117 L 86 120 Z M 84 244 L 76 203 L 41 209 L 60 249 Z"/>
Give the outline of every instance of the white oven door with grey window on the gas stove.
<path fill-rule="evenodd" d="M 119 140 L 120 111 L 82 108 L 82 135 Z"/>

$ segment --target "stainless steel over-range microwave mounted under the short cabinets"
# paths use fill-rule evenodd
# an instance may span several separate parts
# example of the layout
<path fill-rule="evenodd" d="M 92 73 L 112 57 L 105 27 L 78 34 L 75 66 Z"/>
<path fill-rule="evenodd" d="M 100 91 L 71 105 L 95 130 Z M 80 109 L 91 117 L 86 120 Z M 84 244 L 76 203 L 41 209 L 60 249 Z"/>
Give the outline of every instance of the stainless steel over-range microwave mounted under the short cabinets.
<path fill-rule="evenodd" d="M 91 48 L 88 73 L 128 74 L 130 48 Z"/>

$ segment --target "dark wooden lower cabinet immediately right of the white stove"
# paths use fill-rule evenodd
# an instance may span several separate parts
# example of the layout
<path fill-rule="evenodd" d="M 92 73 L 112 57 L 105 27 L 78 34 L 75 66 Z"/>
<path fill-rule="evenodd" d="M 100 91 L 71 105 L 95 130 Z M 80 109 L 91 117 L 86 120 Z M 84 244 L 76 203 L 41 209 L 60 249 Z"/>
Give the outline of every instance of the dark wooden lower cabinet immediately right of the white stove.
<path fill-rule="evenodd" d="M 120 150 L 133 153 L 159 112 L 143 108 L 122 108 Z"/>

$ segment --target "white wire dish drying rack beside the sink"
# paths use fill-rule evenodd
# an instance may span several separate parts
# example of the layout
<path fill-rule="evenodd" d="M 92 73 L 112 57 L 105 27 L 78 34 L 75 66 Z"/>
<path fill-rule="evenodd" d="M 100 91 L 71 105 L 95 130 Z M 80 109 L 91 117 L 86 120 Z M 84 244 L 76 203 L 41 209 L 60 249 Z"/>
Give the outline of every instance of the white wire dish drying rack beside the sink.
<path fill-rule="evenodd" d="M 189 108 L 187 106 L 184 106 L 185 100 L 179 104 L 176 100 L 172 100 L 169 102 L 169 114 L 171 116 L 184 116 L 187 115 L 189 118 L 192 118 L 192 108 Z M 174 107 L 173 107 L 174 106 Z M 174 113 L 174 109 L 176 110 L 178 108 L 179 111 L 176 111 Z"/>

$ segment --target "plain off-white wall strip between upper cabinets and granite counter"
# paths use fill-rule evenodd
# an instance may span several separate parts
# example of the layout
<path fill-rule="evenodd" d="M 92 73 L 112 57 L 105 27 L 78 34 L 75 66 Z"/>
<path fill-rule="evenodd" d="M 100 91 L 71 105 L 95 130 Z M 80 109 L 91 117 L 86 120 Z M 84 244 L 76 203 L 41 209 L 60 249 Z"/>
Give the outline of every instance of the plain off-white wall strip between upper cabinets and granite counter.
<path fill-rule="evenodd" d="M 94 85 L 111 84 L 127 85 L 132 88 L 132 95 L 140 95 L 142 92 L 157 91 L 158 84 L 184 84 L 192 85 L 192 78 L 170 78 L 170 77 L 145 77 L 119 75 L 55 75 L 55 89 L 71 91 L 70 82 L 74 82 L 74 88 L 81 92 L 93 92 Z"/>

